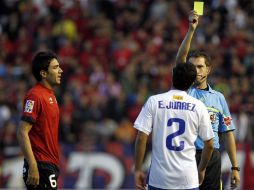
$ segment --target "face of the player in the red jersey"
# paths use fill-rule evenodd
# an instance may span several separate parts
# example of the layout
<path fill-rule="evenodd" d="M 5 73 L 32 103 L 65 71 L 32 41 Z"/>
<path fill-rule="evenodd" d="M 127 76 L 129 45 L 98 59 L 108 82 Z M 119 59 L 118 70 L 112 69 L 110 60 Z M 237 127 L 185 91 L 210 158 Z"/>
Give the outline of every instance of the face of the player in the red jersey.
<path fill-rule="evenodd" d="M 61 69 L 57 59 L 52 59 L 47 72 L 46 80 L 51 85 L 59 85 L 61 83 L 61 76 L 63 70 Z"/>

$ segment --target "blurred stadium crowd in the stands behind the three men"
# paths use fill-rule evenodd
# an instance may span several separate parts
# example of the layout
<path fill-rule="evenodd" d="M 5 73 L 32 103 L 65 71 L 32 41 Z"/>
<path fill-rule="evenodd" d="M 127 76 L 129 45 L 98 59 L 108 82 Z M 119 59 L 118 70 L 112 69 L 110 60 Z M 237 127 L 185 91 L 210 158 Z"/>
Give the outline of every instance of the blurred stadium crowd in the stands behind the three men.
<path fill-rule="evenodd" d="M 15 133 L 24 95 L 35 83 L 30 71 L 33 55 L 52 49 L 64 70 L 57 89 L 59 138 L 69 147 L 63 154 L 113 151 L 121 157 L 124 151 L 131 168 L 133 121 L 150 95 L 170 88 L 172 65 L 193 1 L 2 0 L 0 4 L 0 163 L 20 154 Z M 254 1 L 206 0 L 192 45 L 211 55 L 209 81 L 227 99 L 237 142 L 252 147 L 253 36 Z"/>

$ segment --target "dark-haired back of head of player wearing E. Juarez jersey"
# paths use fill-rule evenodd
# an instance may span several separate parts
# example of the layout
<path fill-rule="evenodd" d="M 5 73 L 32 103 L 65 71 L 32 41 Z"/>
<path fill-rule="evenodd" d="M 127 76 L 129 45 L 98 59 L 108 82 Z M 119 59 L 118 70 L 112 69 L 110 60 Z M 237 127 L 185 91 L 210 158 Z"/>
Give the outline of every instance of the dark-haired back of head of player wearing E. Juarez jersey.
<path fill-rule="evenodd" d="M 178 90 L 188 90 L 194 83 L 197 70 L 192 63 L 178 63 L 173 68 L 173 86 Z"/>

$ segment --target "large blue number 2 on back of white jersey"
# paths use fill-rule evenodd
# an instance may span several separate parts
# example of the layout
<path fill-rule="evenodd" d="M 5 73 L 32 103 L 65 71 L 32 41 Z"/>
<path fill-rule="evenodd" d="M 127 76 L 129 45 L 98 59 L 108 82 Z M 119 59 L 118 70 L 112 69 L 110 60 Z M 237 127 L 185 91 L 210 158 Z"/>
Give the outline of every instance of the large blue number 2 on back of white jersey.
<path fill-rule="evenodd" d="M 175 137 L 177 137 L 177 136 L 184 133 L 184 131 L 185 131 L 185 121 L 183 119 L 180 119 L 180 118 L 170 118 L 168 120 L 167 127 L 172 127 L 173 123 L 178 123 L 179 129 L 176 132 L 171 133 L 167 136 L 166 146 L 169 150 L 181 151 L 181 150 L 184 149 L 184 141 L 180 141 L 179 146 L 174 146 L 173 145 L 173 138 L 175 138 Z"/>

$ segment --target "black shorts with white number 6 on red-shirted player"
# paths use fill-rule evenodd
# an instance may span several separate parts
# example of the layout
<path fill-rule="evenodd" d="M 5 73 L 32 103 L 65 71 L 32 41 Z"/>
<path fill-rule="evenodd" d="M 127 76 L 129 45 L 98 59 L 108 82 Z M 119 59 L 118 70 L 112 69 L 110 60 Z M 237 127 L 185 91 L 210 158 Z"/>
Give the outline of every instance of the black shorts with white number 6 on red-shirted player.
<path fill-rule="evenodd" d="M 33 186 L 29 186 L 26 184 L 26 180 L 28 177 L 28 163 L 26 160 L 24 161 L 23 166 L 23 180 L 26 184 L 26 188 L 28 190 L 44 190 L 44 189 L 57 189 L 57 178 L 59 176 L 59 169 L 56 165 L 48 163 L 48 162 L 37 162 L 39 175 L 40 175 L 40 183 L 35 188 Z"/>

